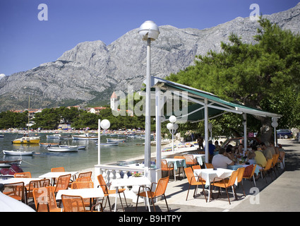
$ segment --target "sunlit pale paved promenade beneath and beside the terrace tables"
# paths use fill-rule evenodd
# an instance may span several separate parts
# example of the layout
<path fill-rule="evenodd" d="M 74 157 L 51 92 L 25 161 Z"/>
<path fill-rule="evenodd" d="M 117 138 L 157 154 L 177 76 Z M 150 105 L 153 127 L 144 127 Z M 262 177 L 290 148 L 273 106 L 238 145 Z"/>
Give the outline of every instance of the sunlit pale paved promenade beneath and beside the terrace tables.
<path fill-rule="evenodd" d="M 170 182 L 167 186 L 167 202 L 170 208 L 170 212 L 253 212 L 253 211 L 300 211 L 300 143 L 294 140 L 279 139 L 278 143 L 281 143 L 285 155 L 286 171 L 280 169 L 280 176 L 275 178 L 275 174 L 272 174 L 272 179 L 267 176 L 268 183 L 265 179 L 258 179 L 256 185 L 259 189 L 259 193 L 254 196 L 254 193 L 250 193 L 251 183 L 244 180 L 244 190 L 246 197 L 242 193 L 241 186 L 236 190 L 238 201 L 234 200 L 232 192 L 229 192 L 231 205 L 227 200 L 225 191 L 222 191 L 222 195 L 211 200 L 209 203 L 205 203 L 202 189 L 198 189 L 198 195 L 193 198 L 194 186 L 191 186 L 190 193 L 188 194 L 188 200 L 186 201 L 186 194 L 188 191 L 187 179 L 181 179 L 174 182 L 170 178 Z M 267 174 L 268 175 L 268 174 Z M 206 190 L 208 193 L 208 190 Z M 200 195 L 199 195 L 200 194 Z M 213 194 L 217 197 L 217 191 Z M 155 204 L 157 211 L 166 212 L 167 208 L 164 200 Z M 121 210 L 121 206 L 119 208 Z M 134 211 L 132 204 L 126 211 Z M 138 205 L 138 211 L 146 211 L 143 203 Z"/>

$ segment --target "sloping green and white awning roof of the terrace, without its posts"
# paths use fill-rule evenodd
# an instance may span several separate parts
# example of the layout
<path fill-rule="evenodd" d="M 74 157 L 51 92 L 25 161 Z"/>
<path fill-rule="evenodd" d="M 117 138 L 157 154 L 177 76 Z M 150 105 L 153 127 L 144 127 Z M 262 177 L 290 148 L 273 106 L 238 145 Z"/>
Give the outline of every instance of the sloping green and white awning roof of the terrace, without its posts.
<path fill-rule="evenodd" d="M 212 93 L 205 92 L 203 90 L 198 90 L 196 88 L 191 88 L 187 85 L 181 85 L 179 83 L 174 83 L 172 81 L 167 81 L 162 78 L 153 77 L 152 86 L 159 87 L 162 92 L 171 92 L 174 95 L 179 95 L 182 99 L 192 102 L 192 105 L 188 105 L 187 111 L 179 110 L 179 112 L 186 112 L 184 115 L 176 114 L 172 112 L 178 119 L 183 118 L 185 121 L 201 121 L 205 119 L 205 102 L 207 102 L 208 107 L 208 119 L 218 117 L 227 112 L 234 112 L 236 114 L 253 114 L 261 117 L 282 117 L 280 114 L 274 114 L 270 112 L 265 112 L 260 109 L 255 109 L 253 107 L 247 107 L 245 105 L 239 105 L 237 103 L 228 102 L 222 100 L 220 97 Z M 167 116 L 166 118 L 168 118 Z"/>

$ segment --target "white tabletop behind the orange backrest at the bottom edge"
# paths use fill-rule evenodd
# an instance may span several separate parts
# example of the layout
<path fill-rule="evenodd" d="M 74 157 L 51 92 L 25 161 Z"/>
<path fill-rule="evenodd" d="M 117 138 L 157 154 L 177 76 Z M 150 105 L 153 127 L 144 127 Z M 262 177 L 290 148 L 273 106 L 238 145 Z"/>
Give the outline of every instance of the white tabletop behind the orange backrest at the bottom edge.
<path fill-rule="evenodd" d="M 59 190 L 56 194 L 56 199 L 61 199 L 61 195 L 81 196 L 82 198 L 104 198 L 102 188 Z"/>

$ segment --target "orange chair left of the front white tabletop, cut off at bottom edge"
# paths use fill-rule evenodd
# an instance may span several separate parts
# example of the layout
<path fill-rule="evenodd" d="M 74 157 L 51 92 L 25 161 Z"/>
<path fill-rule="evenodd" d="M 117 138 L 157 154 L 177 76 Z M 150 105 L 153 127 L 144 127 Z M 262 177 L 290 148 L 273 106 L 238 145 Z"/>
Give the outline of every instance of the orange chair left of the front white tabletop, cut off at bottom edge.
<path fill-rule="evenodd" d="M 52 186 L 45 186 L 32 191 L 37 212 L 61 212 L 56 205 L 56 199 Z"/>

